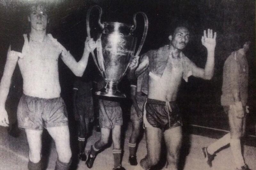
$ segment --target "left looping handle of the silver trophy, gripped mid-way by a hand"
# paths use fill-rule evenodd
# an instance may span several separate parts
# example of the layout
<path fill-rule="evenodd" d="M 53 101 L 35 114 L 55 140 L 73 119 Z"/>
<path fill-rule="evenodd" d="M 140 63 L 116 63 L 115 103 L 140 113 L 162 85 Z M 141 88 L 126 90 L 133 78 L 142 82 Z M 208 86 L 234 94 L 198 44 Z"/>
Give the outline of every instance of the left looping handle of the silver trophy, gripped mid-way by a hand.
<path fill-rule="evenodd" d="M 98 5 L 94 5 L 94 6 L 90 7 L 90 8 L 88 9 L 87 15 L 86 15 L 86 31 L 87 31 L 87 36 L 88 36 L 89 38 L 91 38 L 89 19 L 90 19 L 90 14 L 91 14 L 92 8 L 94 8 L 94 7 L 98 8 L 98 10 L 100 11 L 100 15 L 99 15 L 99 19 L 98 19 L 98 24 L 99 24 L 99 26 L 101 27 L 101 29 L 104 28 L 104 24 L 102 24 L 102 23 L 100 22 L 101 15 L 102 15 L 102 8 L 101 8 L 100 6 L 98 6 Z M 99 65 L 98 65 L 98 63 L 97 63 L 97 60 L 96 60 L 96 57 L 95 57 L 95 55 L 94 55 L 94 52 L 93 52 L 92 50 L 91 50 L 91 53 L 92 53 L 92 58 L 93 58 L 93 60 L 94 60 L 94 63 L 95 63 L 95 65 L 96 65 L 96 67 L 97 67 L 98 70 L 100 71 L 100 74 L 102 75 L 102 77 L 105 78 L 105 76 L 104 76 L 104 74 L 103 74 L 103 69 L 101 69 L 101 68 L 99 67 Z M 99 63 L 100 63 L 100 61 L 99 61 Z"/>

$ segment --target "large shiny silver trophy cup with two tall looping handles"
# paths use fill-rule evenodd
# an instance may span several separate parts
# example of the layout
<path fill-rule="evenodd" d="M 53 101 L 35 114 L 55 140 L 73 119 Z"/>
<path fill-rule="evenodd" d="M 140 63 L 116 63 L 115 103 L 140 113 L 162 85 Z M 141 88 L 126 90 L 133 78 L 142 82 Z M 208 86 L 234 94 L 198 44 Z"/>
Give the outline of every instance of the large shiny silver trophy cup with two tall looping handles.
<path fill-rule="evenodd" d="M 102 29 L 102 32 L 98 33 L 98 40 L 96 41 L 97 56 L 92 51 L 92 57 L 106 83 L 105 87 L 95 92 L 95 94 L 125 98 L 125 94 L 122 94 L 117 89 L 117 85 L 129 69 L 132 59 L 140 53 L 148 31 L 148 18 L 145 13 L 137 12 L 133 15 L 133 25 L 119 22 L 101 23 L 101 7 L 98 5 L 92 6 L 87 11 L 86 17 L 87 36 L 89 38 L 91 37 L 89 18 L 92 8 L 97 8 L 100 12 L 98 24 Z M 141 14 L 144 17 L 144 32 L 137 52 L 134 55 L 137 37 L 134 37 L 133 31 L 136 29 L 137 14 Z"/>

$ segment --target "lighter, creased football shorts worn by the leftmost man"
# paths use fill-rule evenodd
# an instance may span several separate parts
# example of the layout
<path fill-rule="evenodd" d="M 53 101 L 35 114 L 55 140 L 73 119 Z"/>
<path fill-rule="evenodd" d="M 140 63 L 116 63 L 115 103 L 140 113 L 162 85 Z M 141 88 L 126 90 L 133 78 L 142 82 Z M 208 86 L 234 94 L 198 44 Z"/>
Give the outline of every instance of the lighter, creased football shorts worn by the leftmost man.
<path fill-rule="evenodd" d="M 67 109 L 61 97 L 43 99 L 23 94 L 17 110 L 19 128 L 43 130 L 67 126 Z"/>

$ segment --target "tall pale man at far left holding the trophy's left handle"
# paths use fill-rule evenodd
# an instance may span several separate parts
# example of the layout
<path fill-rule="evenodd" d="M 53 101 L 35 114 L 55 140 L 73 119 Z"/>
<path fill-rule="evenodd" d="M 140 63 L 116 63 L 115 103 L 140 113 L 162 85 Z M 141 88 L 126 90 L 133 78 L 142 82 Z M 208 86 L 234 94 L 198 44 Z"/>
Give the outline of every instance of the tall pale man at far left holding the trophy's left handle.
<path fill-rule="evenodd" d="M 25 129 L 29 146 L 29 170 L 42 169 L 42 133 L 47 129 L 53 138 L 58 159 L 56 170 L 70 166 L 71 149 L 67 110 L 60 97 L 58 71 L 59 56 L 76 76 L 82 76 L 91 50 L 93 39 L 86 39 L 84 54 L 79 62 L 56 40 L 46 33 L 49 9 L 45 4 L 32 4 L 28 10 L 31 31 L 17 37 L 7 53 L 4 74 L 0 84 L 0 126 L 8 126 L 5 101 L 16 64 L 23 78 L 23 95 L 17 116 L 19 128 Z"/>

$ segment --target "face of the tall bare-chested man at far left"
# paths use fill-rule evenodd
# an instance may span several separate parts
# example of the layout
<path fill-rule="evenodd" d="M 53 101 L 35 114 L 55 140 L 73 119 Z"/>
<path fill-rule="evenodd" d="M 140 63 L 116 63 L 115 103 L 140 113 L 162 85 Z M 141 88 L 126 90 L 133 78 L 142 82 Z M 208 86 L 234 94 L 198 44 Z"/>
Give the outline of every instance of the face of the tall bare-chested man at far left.
<path fill-rule="evenodd" d="M 44 31 L 49 22 L 45 8 L 41 5 L 32 6 L 28 21 L 31 23 L 31 28 L 36 31 Z"/>

